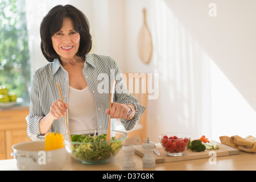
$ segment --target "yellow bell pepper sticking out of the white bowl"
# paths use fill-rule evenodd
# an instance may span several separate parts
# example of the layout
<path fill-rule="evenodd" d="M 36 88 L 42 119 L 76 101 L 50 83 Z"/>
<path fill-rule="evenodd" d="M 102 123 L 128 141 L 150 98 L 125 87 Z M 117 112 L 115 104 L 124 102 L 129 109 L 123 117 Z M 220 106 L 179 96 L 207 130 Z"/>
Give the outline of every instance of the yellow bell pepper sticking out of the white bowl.
<path fill-rule="evenodd" d="M 63 147 L 65 147 L 63 134 L 48 133 L 46 135 L 45 150 L 56 150 Z"/>

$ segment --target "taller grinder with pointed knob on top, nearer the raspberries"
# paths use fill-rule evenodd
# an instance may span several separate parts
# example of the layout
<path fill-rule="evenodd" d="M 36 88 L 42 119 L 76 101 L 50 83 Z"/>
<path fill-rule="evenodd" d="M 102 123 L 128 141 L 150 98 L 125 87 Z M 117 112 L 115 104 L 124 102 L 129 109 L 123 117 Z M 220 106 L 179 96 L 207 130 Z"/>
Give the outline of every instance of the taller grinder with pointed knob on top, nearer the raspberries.
<path fill-rule="evenodd" d="M 155 167 L 155 157 L 153 154 L 154 147 L 155 147 L 155 143 L 150 141 L 148 138 L 146 142 L 142 143 L 142 148 L 144 149 L 144 156 L 142 158 L 143 168 Z"/>

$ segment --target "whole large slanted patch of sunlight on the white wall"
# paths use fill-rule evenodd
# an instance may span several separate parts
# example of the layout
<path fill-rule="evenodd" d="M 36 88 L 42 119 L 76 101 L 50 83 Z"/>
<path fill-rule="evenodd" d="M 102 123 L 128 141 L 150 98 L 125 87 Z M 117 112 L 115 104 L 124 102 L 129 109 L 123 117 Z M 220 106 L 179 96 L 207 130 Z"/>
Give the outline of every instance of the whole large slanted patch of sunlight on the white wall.
<path fill-rule="evenodd" d="M 221 135 L 255 135 L 255 111 L 164 1 L 152 1 L 151 17 L 153 63 L 160 73 L 158 115 L 150 115 L 159 121 L 154 131 L 217 141 Z"/>

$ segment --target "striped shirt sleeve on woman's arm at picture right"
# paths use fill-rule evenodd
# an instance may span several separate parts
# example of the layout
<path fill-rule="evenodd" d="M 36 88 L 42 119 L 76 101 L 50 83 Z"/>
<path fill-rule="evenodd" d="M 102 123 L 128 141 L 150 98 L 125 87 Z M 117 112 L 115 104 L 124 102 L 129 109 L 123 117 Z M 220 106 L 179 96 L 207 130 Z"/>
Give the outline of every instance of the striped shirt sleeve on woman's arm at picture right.
<path fill-rule="evenodd" d="M 118 64 L 114 61 L 113 69 L 115 71 L 115 102 L 118 102 L 120 104 L 131 104 L 135 107 L 135 115 L 133 119 L 127 121 L 126 119 L 120 119 L 122 125 L 125 127 L 125 130 L 131 130 L 135 126 L 136 123 L 139 122 L 139 118 L 144 113 L 144 110 L 146 109 L 145 106 L 140 105 L 137 98 L 130 95 L 127 87 L 125 85 L 125 82 L 122 77 L 122 73 L 118 67 Z"/>

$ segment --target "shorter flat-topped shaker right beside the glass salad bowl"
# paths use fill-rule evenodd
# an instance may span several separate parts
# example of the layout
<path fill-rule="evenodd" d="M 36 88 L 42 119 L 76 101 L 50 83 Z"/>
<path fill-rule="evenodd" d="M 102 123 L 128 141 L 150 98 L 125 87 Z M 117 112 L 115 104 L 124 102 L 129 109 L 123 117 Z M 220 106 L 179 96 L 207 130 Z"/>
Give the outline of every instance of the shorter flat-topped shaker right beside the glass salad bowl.
<path fill-rule="evenodd" d="M 125 155 L 125 159 L 123 159 L 123 171 L 134 171 L 135 170 L 135 160 L 133 159 L 133 154 L 135 151 L 135 147 L 132 144 L 128 144 L 122 147 L 123 155 Z"/>

